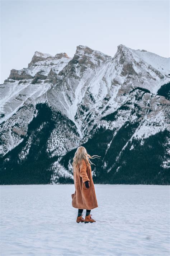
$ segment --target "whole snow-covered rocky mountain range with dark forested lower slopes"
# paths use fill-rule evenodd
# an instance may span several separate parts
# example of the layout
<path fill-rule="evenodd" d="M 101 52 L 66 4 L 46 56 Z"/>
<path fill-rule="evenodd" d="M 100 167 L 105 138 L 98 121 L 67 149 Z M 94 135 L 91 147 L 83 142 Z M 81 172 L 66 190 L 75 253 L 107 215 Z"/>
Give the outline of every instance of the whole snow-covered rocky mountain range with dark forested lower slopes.
<path fill-rule="evenodd" d="M 170 58 L 119 45 L 35 52 L 0 85 L 2 184 L 73 181 L 85 145 L 96 182 L 169 184 Z"/>

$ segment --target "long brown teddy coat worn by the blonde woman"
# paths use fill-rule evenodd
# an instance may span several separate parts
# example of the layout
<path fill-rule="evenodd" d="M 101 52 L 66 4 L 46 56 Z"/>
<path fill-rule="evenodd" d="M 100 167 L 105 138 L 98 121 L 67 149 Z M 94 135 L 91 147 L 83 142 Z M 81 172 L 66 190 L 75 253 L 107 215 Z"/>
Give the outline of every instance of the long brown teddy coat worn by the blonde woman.
<path fill-rule="evenodd" d="M 90 187 L 86 188 L 85 181 L 89 181 Z M 91 166 L 82 160 L 82 168 L 79 164 L 74 168 L 75 193 L 71 195 L 72 206 L 77 209 L 94 209 L 98 207 L 96 199 L 93 178 L 91 175 Z"/>

